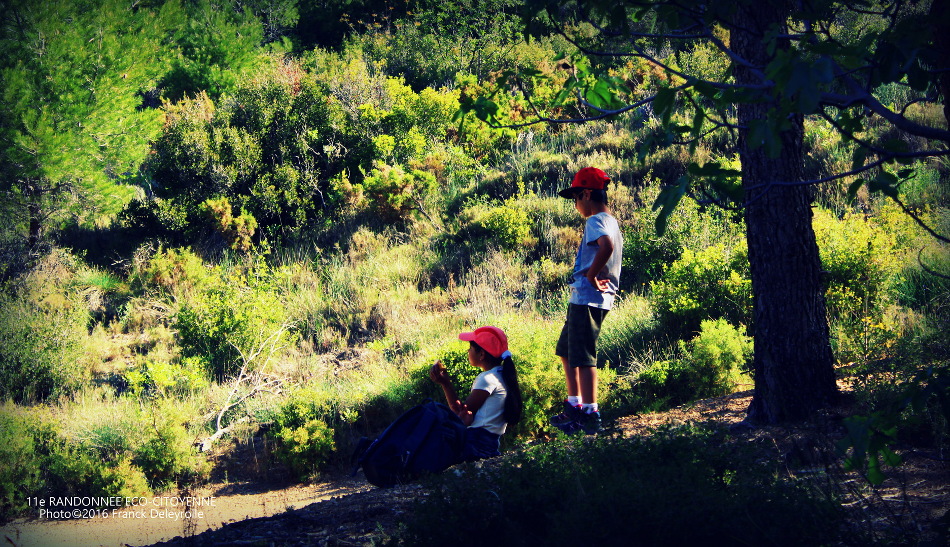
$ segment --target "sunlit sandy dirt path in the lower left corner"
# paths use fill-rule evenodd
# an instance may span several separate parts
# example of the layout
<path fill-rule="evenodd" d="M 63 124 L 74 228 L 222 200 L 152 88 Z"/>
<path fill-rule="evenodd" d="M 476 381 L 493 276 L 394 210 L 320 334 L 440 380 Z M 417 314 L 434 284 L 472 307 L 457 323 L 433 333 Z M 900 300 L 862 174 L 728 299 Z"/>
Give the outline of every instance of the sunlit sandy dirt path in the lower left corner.
<path fill-rule="evenodd" d="M 214 484 L 186 494 L 158 494 L 146 499 L 142 507 L 122 507 L 119 511 L 129 510 L 128 513 L 116 513 L 105 519 L 14 520 L 0 528 L 0 536 L 3 536 L 0 543 L 17 547 L 148 545 L 217 530 L 231 522 L 271 517 L 315 501 L 349 496 L 371 488 L 362 476 L 345 475 L 327 483 L 295 484 L 271 490 L 261 489 L 254 483 Z M 170 498 L 178 496 L 203 500 L 205 504 L 196 507 L 200 517 L 187 519 L 176 515 L 184 507 L 170 506 Z"/>

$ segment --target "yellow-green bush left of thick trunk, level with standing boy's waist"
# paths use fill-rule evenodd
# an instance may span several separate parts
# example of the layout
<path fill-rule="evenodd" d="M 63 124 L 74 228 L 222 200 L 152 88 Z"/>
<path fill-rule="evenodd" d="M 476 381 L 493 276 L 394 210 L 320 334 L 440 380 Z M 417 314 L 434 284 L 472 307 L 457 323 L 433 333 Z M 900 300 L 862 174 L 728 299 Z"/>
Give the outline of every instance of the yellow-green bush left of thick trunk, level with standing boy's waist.
<path fill-rule="evenodd" d="M 671 330 L 693 333 L 703 319 L 729 320 L 749 325 L 752 286 L 746 246 L 727 251 L 710 246 L 683 255 L 665 268 L 662 281 L 653 285 L 659 319 Z"/>

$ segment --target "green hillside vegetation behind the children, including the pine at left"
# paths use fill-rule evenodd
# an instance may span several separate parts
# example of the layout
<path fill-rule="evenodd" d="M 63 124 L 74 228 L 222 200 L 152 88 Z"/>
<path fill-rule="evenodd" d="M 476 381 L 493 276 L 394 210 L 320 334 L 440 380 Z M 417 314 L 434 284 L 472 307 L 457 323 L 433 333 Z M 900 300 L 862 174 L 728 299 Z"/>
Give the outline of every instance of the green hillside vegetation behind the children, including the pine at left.
<path fill-rule="evenodd" d="M 267 465 L 315 479 L 348 461 L 361 435 L 441 398 L 428 380 L 435 359 L 465 389 L 477 371 L 457 334 L 485 324 L 507 333 L 524 394 L 523 421 L 503 449 L 549 440 L 548 417 L 565 396 L 554 345 L 583 226 L 556 191 L 588 166 L 614 181 L 610 208 L 624 234 L 621 293 L 599 345 L 605 415 L 750 389 L 755 325 L 741 211 L 687 199 L 657 236 L 651 209 L 696 157 L 737 168 L 729 138 L 693 155 L 675 145 L 640 155 L 661 133 L 650 107 L 520 130 L 460 121 L 460 98 L 504 69 L 549 76 L 533 90 L 539 101 L 567 78 L 553 60 L 574 47 L 553 33 L 530 42 L 512 33 L 518 6 L 501 0 L 367 2 L 324 30 L 303 26 L 315 2 L 264 4 L 77 0 L 56 3 L 56 13 L 28 2 L 0 11 L 5 24 L 16 14 L 28 23 L 0 56 L 0 519 L 26 514 L 31 496 L 133 496 L 206 482 L 221 472 L 209 453 L 226 460 L 261 435 Z M 50 57 L 34 65 L 28 48 L 42 35 Z M 66 56 L 77 47 L 87 59 Z M 657 51 L 688 73 L 729 65 L 712 49 Z M 599 63 L 634 95 L 667 78 L 645 62 Z M 101 91 L 87 97 L 84 82 L 96 78 Z M 913 93 L 875 91 L 898 104 Z M 530 108 L 523 97 L 502 102 L 506 121 Z M 907 111 L 939 124 L 940 108 Z M 808 176 L 846 171 L 854 143 L 817 116 L 805 127 Z M 867 137 L 885 131 L 911 150 L 926 146 L 883 123 Z M 950 232 L 945 156 L 910 169 L 903 203 Z M 946 364 L 950 282 L 935 272 L 950 272 L 950 256 L 885 196 L 862 190 L 848 201 L 850 183 L 814 188 L 812 224 L 837 374 L 855 380 L 870 412 L 919 369 Z M 902 439 L 944 447 L 935 405 L 907 410 Z M 823 528 L 835 518 L 826 501 L 761 469 L 731 468 L 718 434 L 632 446 L 600 439 L 584 473 L 620 499 L 647 480 L 645 467 L 673 478 L 685 459 L 694 476 L 637 503 L 674 511 L 670 499 L 707 496 L 722 515 L 696 532 L 706 538 L 768 487 L 784 501 L 762 511 L 821 515 L 802 529 L 834 536 Z M 523 480 L 572 491 L 548 473 L 574 449 L 589 448 L 559 442 L 519 456 Z M 597 466 L 621 461 L 629 472 L 602 483 Z M 571 526 L 561 532 L 583 534 Z M 733 532 L 759 544 L 799 526 Z"/>

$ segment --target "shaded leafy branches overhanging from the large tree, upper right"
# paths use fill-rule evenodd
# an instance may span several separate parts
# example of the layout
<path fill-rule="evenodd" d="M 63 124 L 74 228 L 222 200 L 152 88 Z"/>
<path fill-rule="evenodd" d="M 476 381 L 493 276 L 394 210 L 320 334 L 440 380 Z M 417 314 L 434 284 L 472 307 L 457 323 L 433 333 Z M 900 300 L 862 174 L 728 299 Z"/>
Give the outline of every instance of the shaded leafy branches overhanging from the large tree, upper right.
<path fill-rule="evenodd" d="M 688 145 L 693 154 L 699 141 L 719 132 L 726 132 L 733 143 L 744 138 L 749 150 L 761 148 L 777 158 L 782 155 L 783 132 L 802 116 L 826 119 L 846 143 L 854 144 L 853 165 L 846 172 L 811 180 L 776 178 L 744 188 L 738 184 L 739 173 L 723 173 L 716 164 L 693 162 L 689 173 L 661 193 L 655 204 L 654 209 L 660 210 L 659 233 L 683 195 L 744 207 L 774 187 L 849 178 L 852 197 L 866 186 L 868 191 L 898 199 L 897 189 L 913 171 L 891 166 L 950 154 L 950 131 L 943 120 L 921 123 L 908 112 L 914 103 L 936 102 L 950 87 L 950 57 L 934 42 L 937 34 L 950 29 L 950 10 L 941 8 L 941 3 L 929 8 L 900 0 L 815 0 L 795 6 L 787 28 L 773 24 L 769 31 L 755 32 L 736 22 L 734 2 L 728 0 L 593 0 L 576 5 L 529 1 L 523 19 L 527 35 L 540 35 L 542 28 L 553 27 L 577 47 L 575 55 L 554 60 L 568 75 L 560 93 L 550 100 L 537 98 L 534 90 L 551 75 L 538 70 L 507 71 L 494 89 L 464 95 L 456 119 L 472 115 L 495 128 L 519 128 L 609 119 L 652 109 L 662 131 L 640 143 L 641 160 L 657 148 L 675 144 Z M 760 60 L 736 53 L 737 40 L 764 44 L 768 62 L 759 64 Z M 698 45 L 712 47 L 728 60 L 728 68 L 715 77 L 680 68 L 679 52 L 690 52 Z M 649 64 L 663 78 L 644 91 L 618 75 L 618 59 Z M 747 71 L 751 78 L 737 83 L 737 70 Z M 917 97 L 886 104 L 875 90 L 887 84 L 908 88 Z M 531 117 L 518 121 L 501 117 L 500 98 L 509 94 L 523 96 Z M 741 104 L 766 104 L 768 113 L 739 125 L 735 109 Z M 676 112 L 688 112 L 692 120 L 676 121 Z M 911 150 L 905 139 L 893 133 L 865 139 L 870 124 L 881 120 L 927 144 Z M 941 241 L 946 243 L 945 238 Z"/>

